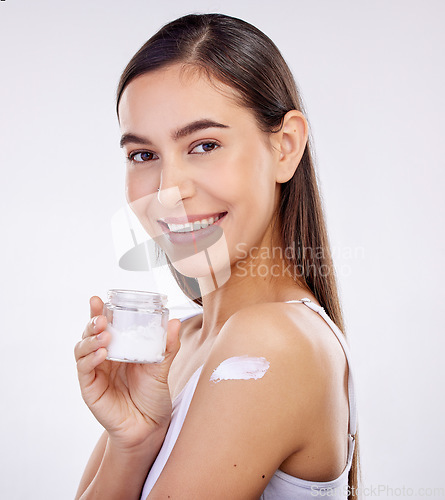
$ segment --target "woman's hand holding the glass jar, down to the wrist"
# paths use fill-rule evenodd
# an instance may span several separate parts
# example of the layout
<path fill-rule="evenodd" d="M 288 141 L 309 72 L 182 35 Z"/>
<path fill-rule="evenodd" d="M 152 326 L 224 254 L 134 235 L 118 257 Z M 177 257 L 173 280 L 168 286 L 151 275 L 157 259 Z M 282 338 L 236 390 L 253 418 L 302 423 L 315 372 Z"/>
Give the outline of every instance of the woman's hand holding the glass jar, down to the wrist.
<path fill-rule="evenodd" d="M 168 322 L 164 361 L 121 363 L 105 359 L 111 334 L 102 311 L 102 300 L 91 297 L 91 320 L 74 349 L 82 397 L 115 446 L 122 450 L 143 447 L 152 433 L 166 430 L 170 422 L 167 379 L 180 347 L 181 322 Z"/>

